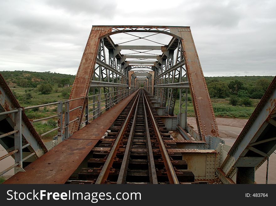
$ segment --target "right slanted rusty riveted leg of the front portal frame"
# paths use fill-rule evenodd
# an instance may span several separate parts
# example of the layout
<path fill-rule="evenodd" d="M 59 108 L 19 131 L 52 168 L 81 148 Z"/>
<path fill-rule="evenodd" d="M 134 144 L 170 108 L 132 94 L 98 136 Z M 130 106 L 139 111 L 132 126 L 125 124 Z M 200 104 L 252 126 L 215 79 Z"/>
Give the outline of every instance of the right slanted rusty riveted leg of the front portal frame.
<path fill-rule="evenodd" d="M 181 31 L 180 34 L 183 38 L 181 40 L 183 56 L 185 58 L 185 67 L 187 70 L 199 135 L 202 137 L 202 140 L 205 140 L 204 136 L 207 135 L 219 136 L 215 114 L 194 45 L 192 33 L 190 30 L 184 30 Z"/>

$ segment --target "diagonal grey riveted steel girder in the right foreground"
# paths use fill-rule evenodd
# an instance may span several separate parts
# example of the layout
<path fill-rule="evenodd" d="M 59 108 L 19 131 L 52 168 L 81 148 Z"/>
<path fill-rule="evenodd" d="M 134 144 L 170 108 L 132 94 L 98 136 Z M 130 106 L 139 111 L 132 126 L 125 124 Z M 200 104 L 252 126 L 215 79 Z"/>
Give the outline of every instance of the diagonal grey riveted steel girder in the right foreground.
<path fill-rule="evenodd" d="M 258 167 L 276 149 L 276 77 L 268 87 L 244 129 L 229 151 L 221 169 L 232 178 L 237 167 Z"/>

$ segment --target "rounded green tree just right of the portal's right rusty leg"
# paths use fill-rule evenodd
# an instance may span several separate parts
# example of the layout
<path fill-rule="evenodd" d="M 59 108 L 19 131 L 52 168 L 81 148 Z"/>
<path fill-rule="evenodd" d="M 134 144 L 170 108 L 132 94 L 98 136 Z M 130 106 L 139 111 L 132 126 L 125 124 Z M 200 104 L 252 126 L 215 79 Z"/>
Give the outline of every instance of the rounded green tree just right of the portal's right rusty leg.
<path fill-rule="evenodd" d="M 229 88 L 223 81 L 213 81 L 208 85 L 211 98 L 225 98 L 229 96 Z"/>

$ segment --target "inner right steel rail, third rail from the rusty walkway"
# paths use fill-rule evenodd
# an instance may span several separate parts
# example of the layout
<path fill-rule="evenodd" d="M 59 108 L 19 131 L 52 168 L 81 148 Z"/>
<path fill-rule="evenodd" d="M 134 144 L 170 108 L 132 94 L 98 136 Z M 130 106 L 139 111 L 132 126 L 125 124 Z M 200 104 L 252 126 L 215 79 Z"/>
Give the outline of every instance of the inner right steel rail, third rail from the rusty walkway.
<path fill-rule="evenodd" d="M 146 145 L 147 145 L 147 151 L 148 151 L 148 164 L 149 164 L 149 175 L 150 175 L 150 181 L 151 184 L 158 184 L 157 181 L 157 175 L 156 175 L 156 169 L 153 159 L 153 153 L 152 153 L 152 147 L 151 147 L 151 137 L 150 137 L 150 131 L 149 131 L 149 125 L 147 120 L 147 113 L 146 113 L 146 105 L 145 105 L 145 98 L 143 97 L 143 107 L 144 107 L 144 114 L 145 114 L 145 126 L 146 126 Z"/>

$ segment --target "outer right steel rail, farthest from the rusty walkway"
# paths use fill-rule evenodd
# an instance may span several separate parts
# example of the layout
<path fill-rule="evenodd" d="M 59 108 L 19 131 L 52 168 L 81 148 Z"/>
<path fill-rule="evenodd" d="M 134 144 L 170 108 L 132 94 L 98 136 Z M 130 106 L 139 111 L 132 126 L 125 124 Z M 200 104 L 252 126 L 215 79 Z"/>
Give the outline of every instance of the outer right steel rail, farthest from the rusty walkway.
<path fill-rule="evenodd" d="M 143 91 L 143 95 L 145 96 L 145 99 L 146 99 L 146 94 L 144 93 L 144 91 Z M 154 125 L 154 130 L 155 130 L 155 132 L 158 136 L 157 140 L 159 142 L 160 152 L 161 152 L 164 164 L 165 164 L 165 168 L 167 170 L 167 175 L 168 175 L 170 184 L 179 184 L 179 181 L 178 181 L 177 176 L 175 174 L 175 171 L 173 169 L 172 162 L 171 162 L 170 157 L 167 153 L 167 149 L 166 149 L 165 144 L 162 140 L 162 136 L 161 136 L 161 134 L 158 130 L 158 126 L 156 124 L 156 121 L 155 121 L 154 116 L 153 116 L 152 111 L 151 111 L 151 107 L 150 107 L 147 99 L 146 99 L 146 104 L 148 106 L 148 109 L 149 109 L 149 112 L 150 112 L 150 115 L 151 115 L 151 120 L 152 120 L 153 125 Z"/>

